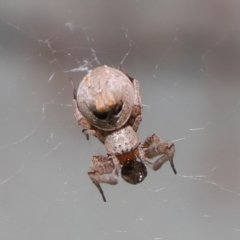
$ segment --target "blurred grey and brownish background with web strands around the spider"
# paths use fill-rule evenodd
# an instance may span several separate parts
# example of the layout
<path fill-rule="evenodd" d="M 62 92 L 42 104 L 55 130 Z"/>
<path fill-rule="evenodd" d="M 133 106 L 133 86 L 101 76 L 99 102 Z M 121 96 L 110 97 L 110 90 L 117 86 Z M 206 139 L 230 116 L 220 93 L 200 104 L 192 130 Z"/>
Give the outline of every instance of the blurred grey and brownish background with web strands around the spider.
<path fill-rule="evenodd" d="M 240 3 L 0 1 L 0 239 L 240 239 Z M 176 144 L 137 186 L 87 176 L 69 79 L 123 65 L 139 136 Z"/>

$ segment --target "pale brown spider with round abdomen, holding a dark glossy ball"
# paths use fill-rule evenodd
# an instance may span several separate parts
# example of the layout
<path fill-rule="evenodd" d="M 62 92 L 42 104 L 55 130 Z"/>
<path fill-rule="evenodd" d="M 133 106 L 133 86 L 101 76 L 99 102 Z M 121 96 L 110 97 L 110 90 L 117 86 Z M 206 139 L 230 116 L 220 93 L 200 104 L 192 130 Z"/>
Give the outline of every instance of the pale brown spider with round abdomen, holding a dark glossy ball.
<path fill-rule="evenodd" d="M 119 172 L 130 184 L 138 184 L 147 176 L 147 168 L 158 170 L 169 161 L 173 163 L 175 146 L 153 134 L 141 143 L 137 130 L 142 120 L 138 80 L 122 69 L 100 66 L 91 70 L 73 89 L 73 107 L 79 125 L 84 127 L 87 140 L 95 136 L 105 145 L 107 156 L 93 156 L 88 175 L 98 188 L 100 183 L 115 185 Z M 161 155 L 154 163 L 147 159 Z"/>

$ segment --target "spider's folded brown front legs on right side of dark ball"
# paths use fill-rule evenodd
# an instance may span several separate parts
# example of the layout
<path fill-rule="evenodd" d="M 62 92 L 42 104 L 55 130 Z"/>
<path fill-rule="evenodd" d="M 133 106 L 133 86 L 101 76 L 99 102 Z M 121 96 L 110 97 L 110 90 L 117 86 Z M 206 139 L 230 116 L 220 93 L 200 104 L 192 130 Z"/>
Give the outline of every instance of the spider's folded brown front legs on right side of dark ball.
<path fill-rule="evenodd" d="M 144 157 L 146 158 L 154 158 L 159 155 L 161 156 L 157 159 L 154 163 L 147 161 L 145 158 L 142 161 L 151 167 L 153 170 L 158 170 L 162 167 L 162 165 L 169 161 L 173 172 L 177 174 L 177 171 L 174 167 L 173 157 L 175 153 L 175 146 L 172 142 L 163 142 L 158 136 L 153 134 L 152 136 L 148 137 L 145 142 L 143 143 L 144 150 Z M 143 158 L 143 157 L 142 157 Z"/>

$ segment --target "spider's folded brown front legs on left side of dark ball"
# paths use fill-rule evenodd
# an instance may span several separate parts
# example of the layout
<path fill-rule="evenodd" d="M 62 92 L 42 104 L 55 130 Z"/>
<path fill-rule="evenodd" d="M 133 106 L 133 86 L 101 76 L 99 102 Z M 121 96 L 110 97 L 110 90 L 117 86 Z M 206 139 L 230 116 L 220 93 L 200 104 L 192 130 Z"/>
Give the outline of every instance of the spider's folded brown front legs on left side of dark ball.
<path fill-rule="evenodd" d="M 114 175 L 104 175 L 111 174 L 114 169 Z M 111 185 L 117 184 L 119 170 L 120 165 L 115 156 L 93 156 L 92 166 L 88 171 L 88 175 L 101 193 L 104 202 L 106 202 L 106 198 L 104 196 L 100 183 L 108 183 Z"/>

